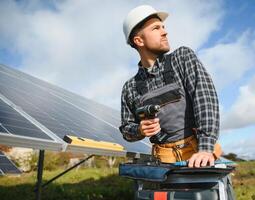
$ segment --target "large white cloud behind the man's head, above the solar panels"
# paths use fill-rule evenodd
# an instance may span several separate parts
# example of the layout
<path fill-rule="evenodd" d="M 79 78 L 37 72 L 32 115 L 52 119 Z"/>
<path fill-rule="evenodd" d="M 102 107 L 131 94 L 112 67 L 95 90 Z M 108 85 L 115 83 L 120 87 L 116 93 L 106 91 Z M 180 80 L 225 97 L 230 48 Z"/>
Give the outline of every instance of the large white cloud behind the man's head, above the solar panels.
<path fill-rule="evenodd" d="M 137 69 L 138 56 L 122 33 L 130 9 L 151 4 L 170 12 L 166 26 L 173 48 L 199 48 L 222 17 L 221 1 L 67 0 L 55 1 L 54 9 L 40 1 L 25 4 L 0 2 L 0 36 L 6 41 L 0 47 L 19 53 L 20 67 L 29 74 L 114 108 L 123 82 Z"/>

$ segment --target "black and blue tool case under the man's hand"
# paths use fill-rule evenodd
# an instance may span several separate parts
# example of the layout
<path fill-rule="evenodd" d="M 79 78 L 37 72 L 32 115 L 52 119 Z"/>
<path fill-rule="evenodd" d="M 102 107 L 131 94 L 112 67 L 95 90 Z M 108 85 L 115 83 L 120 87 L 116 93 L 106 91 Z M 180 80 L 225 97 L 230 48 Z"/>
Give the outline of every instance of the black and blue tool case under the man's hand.
<path fill-rule="evenodd" d="M 120 176 L 134 179 L 136 200 L 234 200 L 234 166 L 188 168 L 159 163 L 125 163 Z"/>

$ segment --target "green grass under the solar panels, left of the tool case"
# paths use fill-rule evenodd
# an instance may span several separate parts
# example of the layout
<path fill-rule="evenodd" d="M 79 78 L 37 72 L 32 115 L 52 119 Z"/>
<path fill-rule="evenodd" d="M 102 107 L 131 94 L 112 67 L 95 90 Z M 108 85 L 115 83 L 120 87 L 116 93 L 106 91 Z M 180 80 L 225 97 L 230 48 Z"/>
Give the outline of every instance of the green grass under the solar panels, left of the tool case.
<path fill-rule="evenodd" d="M 44 182 L 63 170 L 44 171 Z M 0 178 L 0 199 L 34 200 L 36 172 L 20 177 Z M 42 199 L 47 200 L 125 200 L 133 199 L 132 181 L 120 178 L 117 169 L 73 170 L 43 189 Z"/>

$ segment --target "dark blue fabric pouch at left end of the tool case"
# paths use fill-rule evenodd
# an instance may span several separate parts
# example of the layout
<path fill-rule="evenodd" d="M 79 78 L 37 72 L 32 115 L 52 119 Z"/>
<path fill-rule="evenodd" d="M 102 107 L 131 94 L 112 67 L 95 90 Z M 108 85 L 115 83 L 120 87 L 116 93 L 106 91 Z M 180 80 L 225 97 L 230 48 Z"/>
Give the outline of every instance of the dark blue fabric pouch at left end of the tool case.
<path fill-rule="evenodd" d="M 136 180 L 162 182 L 167 179 L 169 167 L 125 163 L 119 165 L 119 175 Z"/>

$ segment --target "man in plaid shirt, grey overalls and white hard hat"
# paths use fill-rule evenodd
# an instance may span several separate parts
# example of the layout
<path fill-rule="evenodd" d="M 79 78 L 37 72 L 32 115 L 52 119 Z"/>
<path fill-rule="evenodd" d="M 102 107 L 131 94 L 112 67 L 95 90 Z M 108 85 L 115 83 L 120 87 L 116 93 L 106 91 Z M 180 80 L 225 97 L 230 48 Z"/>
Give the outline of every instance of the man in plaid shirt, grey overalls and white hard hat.
<path fill-rule="evenodd" d="M 213 82 L 194 52 L 171 54 L 163 21 L 168 14 L 148 5 L 127 15 L 126 42 L 140 55 L 138 73 L 123 86 L 120 131 L 127 141 L 150 137 L 162 162 L 188 160 L 189 167 L 214 165 L 219 151 L 219 107 Z M 159 104 L 158 117 L 139 119 L 136 110 Z"/>

